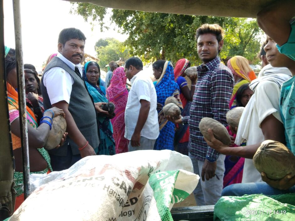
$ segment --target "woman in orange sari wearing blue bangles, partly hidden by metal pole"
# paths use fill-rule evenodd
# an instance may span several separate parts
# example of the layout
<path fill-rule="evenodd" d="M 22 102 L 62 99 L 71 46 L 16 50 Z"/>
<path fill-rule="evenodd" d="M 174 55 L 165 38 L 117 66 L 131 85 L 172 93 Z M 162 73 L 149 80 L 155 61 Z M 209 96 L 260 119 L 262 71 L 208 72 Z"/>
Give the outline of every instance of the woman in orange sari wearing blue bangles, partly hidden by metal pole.
<path fill-rule="evenodd" d="M 20 121 L 19 121 L 19 104 L 18 104 L 18 92 L 17 89 L 17 73 L 16 73 L 16 60 L 14 56 L 7 56 L 5 58 L 6 74 L 7 74 L 7 98 L 8 98 L 8 110 L 9 110 L 9 121 L 11 129 L 13 155 L 15 159 L 15 172 L 14 182 L 16 191 L 16 210 L 20 204 L 24 201 L 24 190 L 23 190 L 23 166 L 22 166 L 22 153 L 21 153 L 21 140 L 20 140 Z M 65 113 L 62 109 L 51 108 L 44 112 L 44 121 L 41 121 L 38 127 L 36 117 L 33 111 L 26 106 L 27 112 L 27 126 L 28 126 L 28 141 L 29 141 L 29 164 L 30 173 L 49 173 L 52 171 L 50 165 L 50 157 L 48 152 L 43 148 L 49 131 L 51 129 L 52 121 L 54 116 L 62 115 Z M 66 133 L 61 141 L 66 137 Z"/>

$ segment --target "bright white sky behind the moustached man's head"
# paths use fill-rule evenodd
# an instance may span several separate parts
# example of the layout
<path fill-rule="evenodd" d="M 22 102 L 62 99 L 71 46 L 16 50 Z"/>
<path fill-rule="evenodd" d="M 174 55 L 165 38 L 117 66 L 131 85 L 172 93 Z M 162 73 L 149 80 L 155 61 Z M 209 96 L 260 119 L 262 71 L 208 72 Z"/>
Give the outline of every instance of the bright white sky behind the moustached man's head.
<path fill-rule="evenodd" d="M 85 53 L 96 55 L 95 42 L 100 38 L 113 37 L 124 41 L 127 36 L 110 29 L 100 32 L 99 25 L 92 26 L 80 15 L 70 14 L 71 4 L 62 0 L 24 0 L 21 2 L 22 42 L 24 63 L 30 63 L 40 70 L 43 62 L 57 52 L 59 32 L 75 27 L 86 36 Z M 108 10 L 110 11 L 110 9 Z M 109 19 L 105 19 L 106 22 Z M 114 27 L 115 24 L 112 25 Z M 15 48 L 12 0 L 4 0 L 4 42 Z"/>

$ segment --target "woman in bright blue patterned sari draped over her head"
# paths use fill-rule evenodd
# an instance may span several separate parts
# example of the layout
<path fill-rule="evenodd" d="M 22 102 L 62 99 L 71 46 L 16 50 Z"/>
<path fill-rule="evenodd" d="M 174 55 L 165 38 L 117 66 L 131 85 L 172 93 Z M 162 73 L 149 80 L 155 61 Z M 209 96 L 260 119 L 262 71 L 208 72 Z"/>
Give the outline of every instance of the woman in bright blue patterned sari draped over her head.
<path fill-rule="evenodd" d="M 157 111 L 160 134 L 156 140 L 154 150 L 174 150 L 175 124 L 168 121 L 163 113 L 163 107 L 167 97 L 174 96 L 177 98 L 178 106 L 182 110 L 182 104 L 179 97 L 179 86 L 174 81 L 173 66 L 170 61 L 158 60 L 153 63 L 153 75 L 157 82 L 155 88 L 157 93 Z"/>

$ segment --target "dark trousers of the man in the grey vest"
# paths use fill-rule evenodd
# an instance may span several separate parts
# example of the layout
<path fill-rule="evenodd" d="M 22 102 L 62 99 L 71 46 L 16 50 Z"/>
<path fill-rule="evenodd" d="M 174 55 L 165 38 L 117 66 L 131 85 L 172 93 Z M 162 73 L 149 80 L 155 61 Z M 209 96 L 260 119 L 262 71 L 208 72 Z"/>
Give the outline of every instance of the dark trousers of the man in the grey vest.
<path fill-rule="evenodd" d="M 73 155 L 72 148 L 70 145 L 67 146 L 67 156 L 55 156 L 50 155 L 50 163 L 53 171 L 61 171 L 70 168 L 78 160 L 81 160 L 82 157 L 80 154 Z"/>

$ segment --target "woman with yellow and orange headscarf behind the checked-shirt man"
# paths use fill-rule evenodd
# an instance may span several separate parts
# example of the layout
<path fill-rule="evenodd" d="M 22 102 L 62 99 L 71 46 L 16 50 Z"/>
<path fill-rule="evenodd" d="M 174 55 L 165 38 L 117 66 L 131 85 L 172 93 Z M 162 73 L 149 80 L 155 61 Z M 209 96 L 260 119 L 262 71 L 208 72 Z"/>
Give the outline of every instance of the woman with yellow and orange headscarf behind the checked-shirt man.
<path fill-rule="evenodd" d="M 237 107 L 236 93 L 239 87 L 256 79 L 256 75 L 249 66 L 249 61 L 239 55 L 229 59 L 227 66 L 232 71 L 235 82 L 233 86 L 233 94 L 229 102 L 229 109 L 232 109 Z"/>

